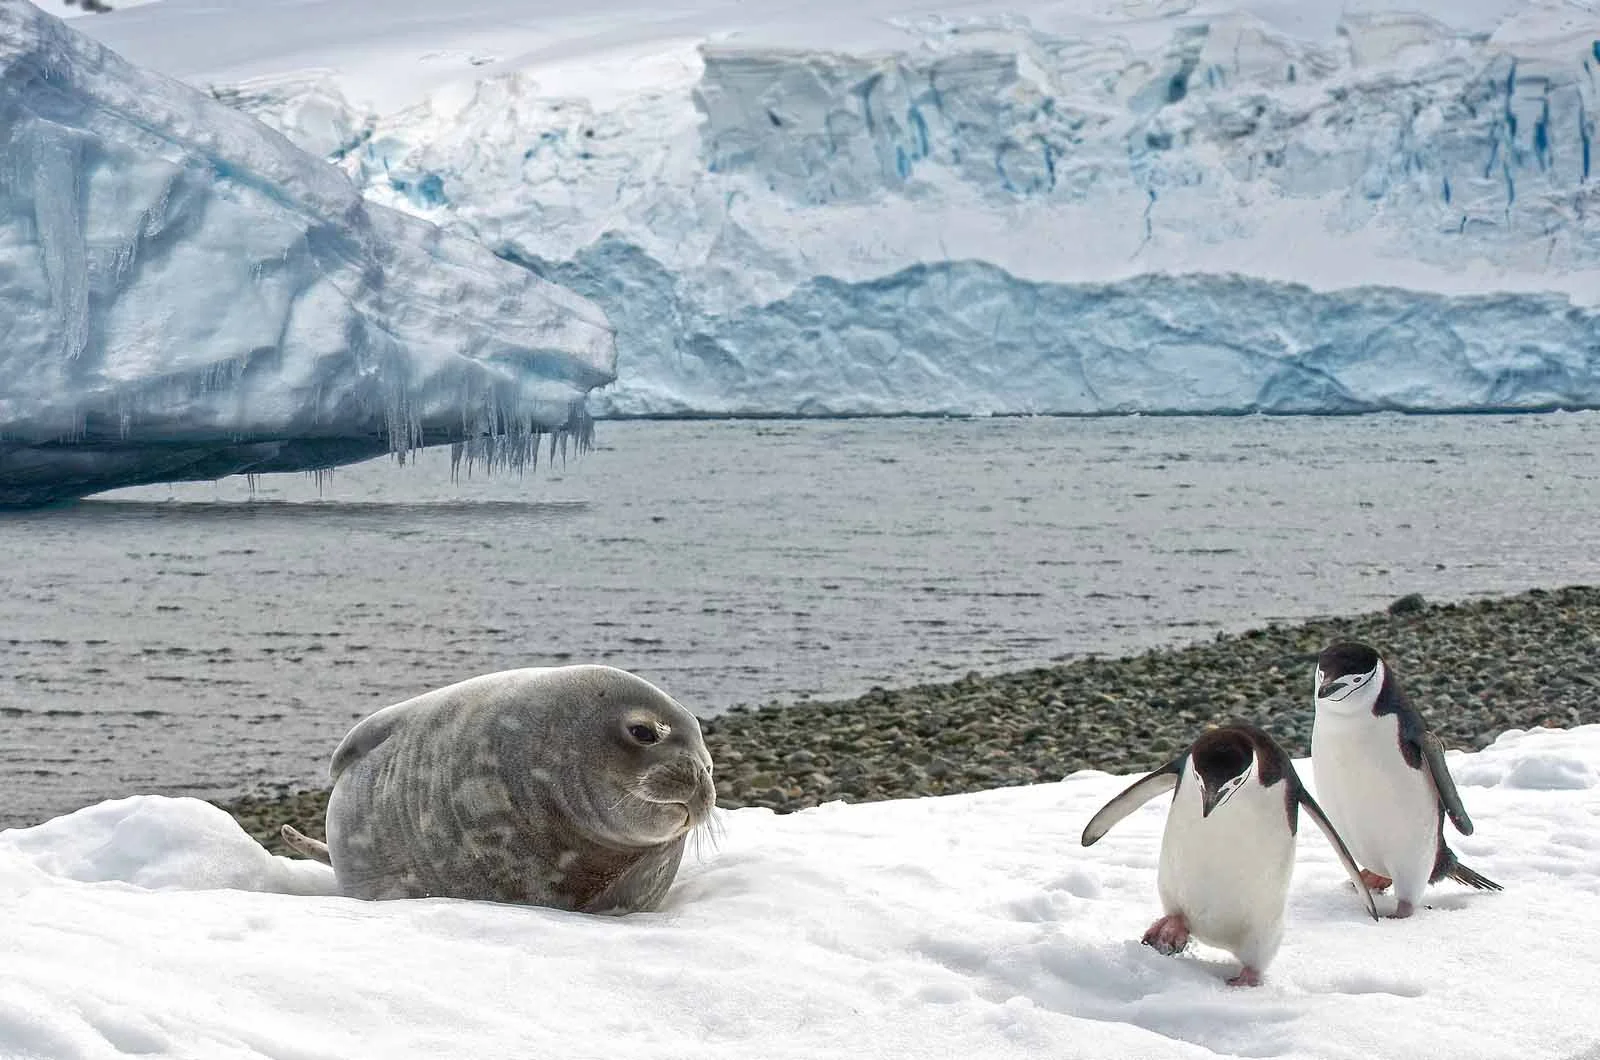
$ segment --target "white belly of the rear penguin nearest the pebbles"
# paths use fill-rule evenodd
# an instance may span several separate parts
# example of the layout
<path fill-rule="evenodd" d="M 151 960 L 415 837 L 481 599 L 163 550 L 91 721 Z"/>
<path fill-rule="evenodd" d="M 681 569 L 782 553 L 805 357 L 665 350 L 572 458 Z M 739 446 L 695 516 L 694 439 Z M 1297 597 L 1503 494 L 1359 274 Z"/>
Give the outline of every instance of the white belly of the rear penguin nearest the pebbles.
<path fill-rule="evenodd" d="M 1310 765 L 1317 802 L 1362 868 L 1394 877 L 1434 863 L 1438 796 L 1400 756 L 1398 717 L 1318 706 Z"/>

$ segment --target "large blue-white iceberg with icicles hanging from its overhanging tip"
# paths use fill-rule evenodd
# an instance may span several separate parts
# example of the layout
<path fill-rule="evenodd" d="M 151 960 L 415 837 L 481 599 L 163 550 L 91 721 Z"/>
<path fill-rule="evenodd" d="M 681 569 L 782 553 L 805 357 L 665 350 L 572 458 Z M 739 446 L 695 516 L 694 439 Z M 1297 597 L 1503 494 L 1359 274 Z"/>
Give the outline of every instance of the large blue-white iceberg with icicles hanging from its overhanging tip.
<path fill-rule="evenodd" d="M 614 378 L 594 304 L 22 0 L 0 152 L 0 506 L 440 442 L 517 463 Z"/>

